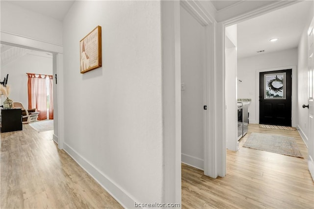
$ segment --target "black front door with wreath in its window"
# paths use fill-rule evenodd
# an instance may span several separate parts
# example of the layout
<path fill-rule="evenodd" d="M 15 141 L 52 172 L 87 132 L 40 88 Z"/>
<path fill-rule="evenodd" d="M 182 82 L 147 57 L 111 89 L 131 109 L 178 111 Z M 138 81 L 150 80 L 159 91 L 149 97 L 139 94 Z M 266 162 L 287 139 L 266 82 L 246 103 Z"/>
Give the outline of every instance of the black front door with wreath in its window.
<path fill-rule="evenodd" d="M 292 70 L 260 73 L 260 124 L 291 126 Z"/>

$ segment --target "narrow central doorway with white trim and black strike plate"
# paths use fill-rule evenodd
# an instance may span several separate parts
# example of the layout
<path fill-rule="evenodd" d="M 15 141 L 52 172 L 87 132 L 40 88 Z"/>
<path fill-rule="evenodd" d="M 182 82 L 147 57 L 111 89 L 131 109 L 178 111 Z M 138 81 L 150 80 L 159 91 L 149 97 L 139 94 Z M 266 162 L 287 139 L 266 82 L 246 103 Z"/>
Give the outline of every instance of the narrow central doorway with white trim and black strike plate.
<path fill-rule="evenodd" d="M 214 26 L 212 19 L 198 5 L 180 1 L 181 68 L 176 86 L 181 85 L 180 124 L 181 161 L 204 170 L 204 175 L 214 177 L 214 149 L 211 141 L 214 132 L 213 108 L 209 98 L 213 98 L 214 69 Z M 198 12 L 196 12 L 198 11 Z M 182 20 L 184 19 L 184 21 Z M 190 29 L 190 28 L 193 29 Z M 207 108 L 208 107 L 208 108 Z M 178 114 L 179 116 L 179 114 Z M 179 122 L 180 121 L 180 122 Z"/>

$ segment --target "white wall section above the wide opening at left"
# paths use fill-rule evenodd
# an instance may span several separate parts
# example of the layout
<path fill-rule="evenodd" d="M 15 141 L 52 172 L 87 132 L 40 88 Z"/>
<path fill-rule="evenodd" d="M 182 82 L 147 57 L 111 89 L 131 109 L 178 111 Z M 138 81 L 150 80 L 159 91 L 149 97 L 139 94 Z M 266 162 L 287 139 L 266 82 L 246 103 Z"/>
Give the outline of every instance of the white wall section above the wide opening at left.
<path fill-rule="evenodd" d="M 62 45 L 62 22 L 24 9 L 8 1 L 1 4 L 1 32 L 18 34 Z"/>

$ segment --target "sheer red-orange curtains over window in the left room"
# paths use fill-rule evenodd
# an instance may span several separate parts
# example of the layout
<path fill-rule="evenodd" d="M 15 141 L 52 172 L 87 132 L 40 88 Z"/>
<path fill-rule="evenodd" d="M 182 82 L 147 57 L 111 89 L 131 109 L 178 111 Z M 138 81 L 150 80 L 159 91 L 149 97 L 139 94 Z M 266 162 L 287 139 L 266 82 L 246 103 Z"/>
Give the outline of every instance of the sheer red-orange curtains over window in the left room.
<path fill-rule="evenodd" d="M 27 73 L 28 81 L 28 109 L 36 108 L 39 112 L 38 120 L 47 119 L 47 87 L 46 78 L 49 78 L 49 119 L 53 119 L 52 76 Z"/>

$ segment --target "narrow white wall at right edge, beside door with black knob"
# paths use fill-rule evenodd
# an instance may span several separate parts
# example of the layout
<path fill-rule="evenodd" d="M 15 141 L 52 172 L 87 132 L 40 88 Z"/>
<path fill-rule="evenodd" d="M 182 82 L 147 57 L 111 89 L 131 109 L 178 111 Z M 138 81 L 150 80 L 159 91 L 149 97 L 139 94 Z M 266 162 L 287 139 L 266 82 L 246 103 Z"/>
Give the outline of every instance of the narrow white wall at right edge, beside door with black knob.
<path fill-rule="evenodd" d="M 303 104 L 308 104 L 308 28 L 313 19 L 313 10 L 309 14 L 307 24 L 302 32 L 298 46 L 298 99 L 297 99 L 297 125 L 302 138 L 308 146 L 308 108 L 302 108 Z M 312 139 L 314 140 L 314 139 Z"/>

